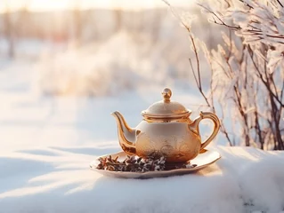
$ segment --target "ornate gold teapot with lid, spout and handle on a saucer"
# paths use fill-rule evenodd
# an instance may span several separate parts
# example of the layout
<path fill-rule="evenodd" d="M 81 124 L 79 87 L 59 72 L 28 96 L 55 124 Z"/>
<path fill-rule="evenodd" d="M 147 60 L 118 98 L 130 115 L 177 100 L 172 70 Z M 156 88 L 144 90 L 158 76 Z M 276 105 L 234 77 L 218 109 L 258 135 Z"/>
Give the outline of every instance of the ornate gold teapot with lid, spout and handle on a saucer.
<path fill-rule="evenodd" d="M 163 100 L 142 111 L 142 122 L 135 128 L 126 123 L 118 111 L 112 113 L 118 124 L 118 141 L 126 154 L 142 158 L 164 156 L 166 162 L 187 162 L 195 158 L 215 138 L 220 122 L 211 112 L 200 112 L 191 121 L 191 110 L 172 101 L 172 91 L 162 91 Z M 214 123 L 212 134 L 201 143 L 199 122 L 211 119 Z"/>

